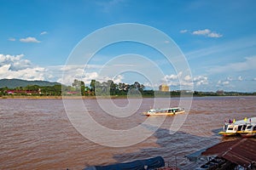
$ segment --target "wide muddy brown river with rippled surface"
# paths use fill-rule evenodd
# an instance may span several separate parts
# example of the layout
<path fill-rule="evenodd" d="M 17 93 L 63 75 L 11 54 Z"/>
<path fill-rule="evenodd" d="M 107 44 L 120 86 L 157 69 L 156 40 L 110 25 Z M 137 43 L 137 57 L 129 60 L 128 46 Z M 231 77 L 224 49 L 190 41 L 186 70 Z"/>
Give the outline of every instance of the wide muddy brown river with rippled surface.
<path fill-rule="evenodd" d="M 171 100 L 171 105 L 179 102 L 178 98 Z M 133 115 L 122 118 L 105 113 L 97 99 L 83 102 L 96 122 L 112 129 L 130 129 L 146 119 L 158 119 L 142 115 L 154 99 L 143 99 Z M 113 103 L 124 107 L 127 99 L 113 99 Z M 218 135 L 224 120 L 256 116 L 255 104 L 256 97 L 195 97 L 186 121 L 176 133 L 169 131 L 175 116 L 167 116 L 148 139 L 110 147 L 84 138 L 69 121 L 62 99 L 0 99 L 0 169 L 73 170 L 154 156 L 162 156 L 166 163 L 181 169 L 194 169 L 198 165 L 184 156 L 229 140 Z M 140 132 L 135 138 L 137 135 Z M 99 138 L 108 139 L 109 135 Z"/>

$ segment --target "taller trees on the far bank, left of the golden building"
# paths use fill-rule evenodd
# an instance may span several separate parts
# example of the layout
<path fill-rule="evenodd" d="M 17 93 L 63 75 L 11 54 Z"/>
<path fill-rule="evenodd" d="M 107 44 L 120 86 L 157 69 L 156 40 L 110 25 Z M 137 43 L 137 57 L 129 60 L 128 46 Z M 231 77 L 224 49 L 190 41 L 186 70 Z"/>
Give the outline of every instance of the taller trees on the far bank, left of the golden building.
<path fill-rule="evenodd" d="M 95 95 L 153 95 L 153 90 L 145 90 L 143 84 L 134 82 L 133 84 L 127 84 L 124 82 L 114 83 L 112 80 L 107 82 L 98 82 L 91 80 L 90 85 L 86 86 L 83 81 L 74 79 L 72 85 L 66 86 L 56 84 L 54 86 L 38 86 L 28 85 L 26 87 L 17 88 L 0 88 L 0 96 L 3 95 L 44 95 L 44 96 L 61 96 L 61 95 L 83 95 L 83 96 L 95 96 Z"/>

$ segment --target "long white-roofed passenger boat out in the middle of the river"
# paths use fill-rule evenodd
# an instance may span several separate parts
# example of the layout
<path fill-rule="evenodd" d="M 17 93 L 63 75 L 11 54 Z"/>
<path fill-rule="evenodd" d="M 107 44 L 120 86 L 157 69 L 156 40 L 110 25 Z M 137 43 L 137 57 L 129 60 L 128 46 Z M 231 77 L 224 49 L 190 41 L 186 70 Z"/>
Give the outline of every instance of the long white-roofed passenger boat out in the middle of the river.
<path fill-rule="evenodd" d="M 150 109 L 148 112 L 143 112 L 146 116 L 174 116 L 184 113 L 184 109 L 180 107 L 172 107 L 166 109 Z"/>

